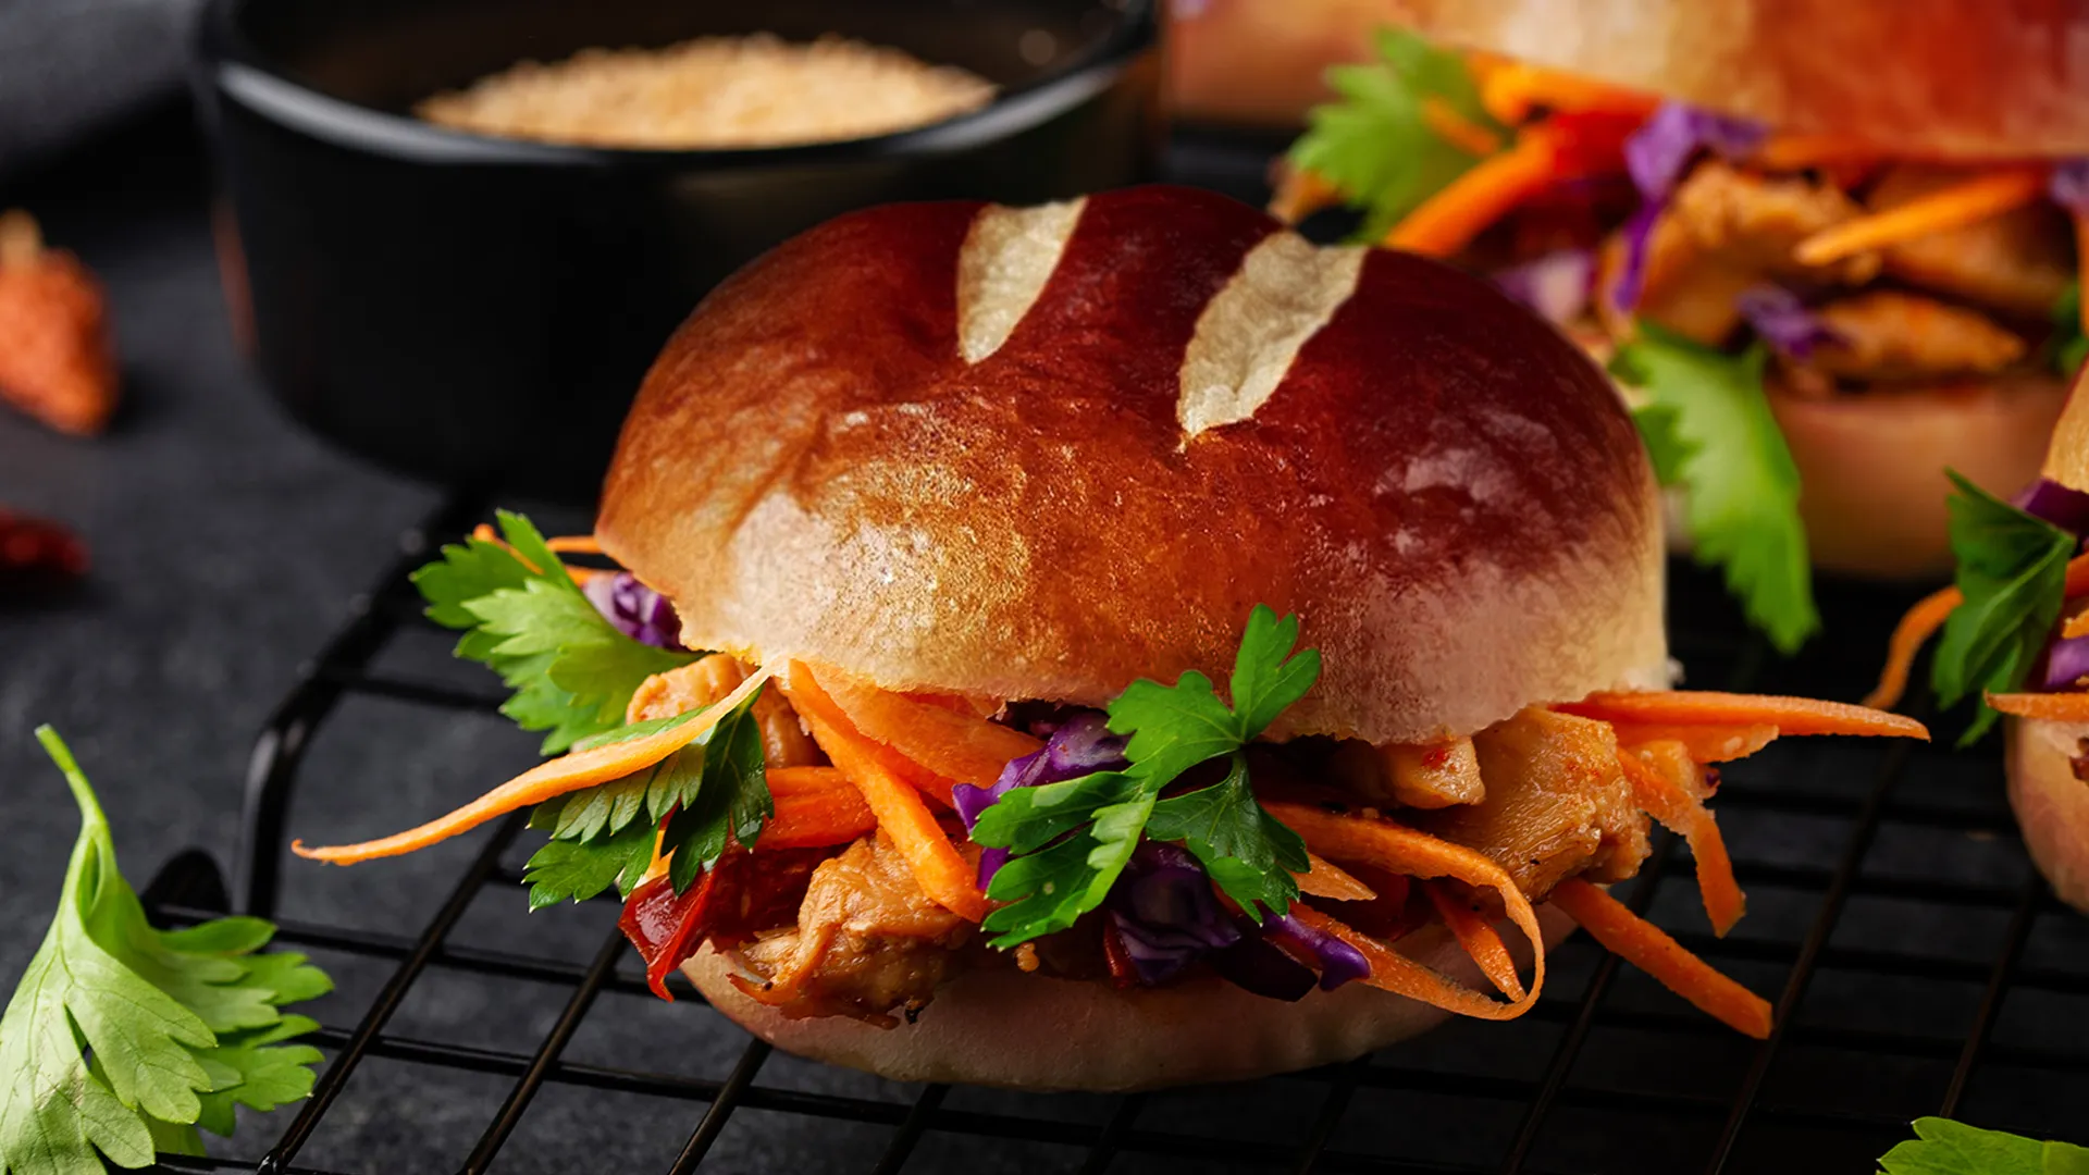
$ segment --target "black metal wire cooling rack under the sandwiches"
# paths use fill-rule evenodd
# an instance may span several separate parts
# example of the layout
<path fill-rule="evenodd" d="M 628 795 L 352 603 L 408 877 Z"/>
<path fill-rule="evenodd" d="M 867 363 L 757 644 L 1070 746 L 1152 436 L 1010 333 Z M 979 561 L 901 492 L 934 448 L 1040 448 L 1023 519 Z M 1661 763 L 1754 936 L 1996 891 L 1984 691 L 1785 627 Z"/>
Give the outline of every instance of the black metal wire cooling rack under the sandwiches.
<path fill-rule="evenodd" d="M 389 567 L 376 588 L 357 600 L 355 615 L 311 663 L 309 673 L 282 700 L 255 744 L 249 769 L 244 851 L 238 868 L 236 901 L 228 903 L 215 868 L 201 853 L 178 857 L 163 870 L 161 878 L 148 886 L 148 905 L 165 922 L 192 922 L 224 912 L 228 905 L 238 912 L 269 916 L 278 899 L 278 868 L 284 845 L 284 813 L 290 792 L 297 788 L 299 769 L 313 734 L 334 711 L 336 702 L 351 694 L 384 696 L 422 707 L 447 707 L 460 711 L 491 709 L 497 698 L 460 692 L 397 675 L 372 673 L 372 661 L 403 627 L 426 623 L 418 619 L 418 598 L 407 583 L 407 573 L 418 567 L 428 552 L 424 535 L 455 535 L 483 516 L 483 502 L 460 496 L 443 504 L 422 529 L 412 531 L 399 562 Z M 1688 613 L 1688 602 L 1677 604 Z M 1675 633 L 1675 652 L 1690 663 L 1698 682 L 1723 682 L 1730 688 L 1746 688 L 1761 677 L 1765 659 L 1761 650 L 1736 633 Z M 1857 650 L 1855 656 L 1870 656 Z M 1707 667 L 1719 673 L 1707 675 Z M 288 1127 L 274 1148 L 257 1162 L 230 1158 L 169 1158 L 169 1171 L 263 1171 L 276 1175 L 307 1173 L 328 1175 L 309 1167 L 299 1167 L 297 1158 L 313 1135 L 313 1129 L 336 1104 L 349 1079 L 361 1062 L 389 1058 L 451 1070 L 485 1073 L 512 1079 L 506 1100 L 485 1125 L 468 1158 L 466 1173 L 487 1171 L 501 1152 L 503 1142 L 526 1114 L 531 1100 L 545 1085 L 570 1085 L 585 1089 L 608 1089 L 625 1093 L 646 1093 L 654 1098 L 694 1102 L 704 1108 L 696 1112 L 694 1127 L 681 1154 L 668 1167 L 683 1175 L 696 1171 L 717 1144 L 721 1131 L 735 1110 L 779 1110 L 785 1114 L 813 1114 L 831 1121 L 869 1123 L 890 1127 L 884 1152 L 871 1165 L 875 1173 L 892 1173 L 907 1165 L 915 1146 L 928 1131 L 950 1131 L 1005 1139 L 1007 1144 L 1076 1144 L 1086 1150 L 1078 1171 L 1101 1173 L 1118 1156 L 1157 1156 L 1164 1160 L 1212 1160 L 1237 1162 L 1255 1169 L 1283 1171 L 1500 1171 L 1515 1175 L 1535 1171 L 1538 1142 L 1560 1110 L 1615 1112 L 1632 1116 L 1659 1116 L 1694 1123 L 1717 1123 L 1711 1146 L 1680 1171 L 1700 1169 L 1709 1175 L 1740 1171 L 1736 1162 L 1740 1144 L 1751 1129 L 1763 1125 L 1801 1127 L 1809 1131 L 1847 1133 L 1857 1131 L 1868 1137 L 1895 1137 L 1905 1131 L 1911 1112 L 1951 1114 L 1966 1098 L 1968 1083 L 1982 1066 L 2010 1064 L 2041 1073 L 2089 1073 L 2089 1056 L 2062 1047 L 2003 1045 L 1991 1041 L 1995 1020 L 2003 999 L 2012 989 L 2083 991 L 2089 976 L 2066 968 L 2026 966 L 2024 945 L 2031 939 L 2035 920 L 2058 909 L 2045 884 L 2033 874 L 2022 884 L 1982 884 L 1957 880 L 1886 878 L 1870 876 L 1863 870 L 1868 851 L 1878 836 L 1882 822 L 1966 830 L 1972 820 L 1985 832 L 2012 834 L 2005 811 L 1968 817 L 1955 805 L 1926 805 L 1899 799 L 1897 784 L 1907 776 L 1916 751 L 1909 744 L 1893 744 L 1876 759 L 1876 774 L 1861 799 L 1820 794 L 1817 790 L 1774 782 L 1769 786 L 1726 788 L 1719 801 L 1721 811 L 1755 809 L 1780 817 L 1828 817 L 1847 822 L 1840 855 L 1832 866 L 1794 866 L 1748 859 L 1736 853 L 1742 884 L 1778 886 L 1782 891 L 1813 895 L 1815 907 L 1811 924 L 1797 945 L 1742 939 L 1711 939 L 1709 935 L 1677 932 L 1690 949 L 1698 951 L 1715 966 L 1771 964 L 1784 966 L 1786 978 L 1778 995 L 1778 1027 L 1769 1041 L 1753 1047 L 1744 1073 L 1730 1093 L 1703 1093 L 1688 1089 L 1609 1089 L 1575 1083 L 1577 1062 L 1586 1058 L 1586 1045 L 1598 1029 L 1629 1029 L 1652 1037 L 1659 1050 L 1700 1050 L 1709 1039 L 1728 1031 L 1709 1018 L 1675 1004 L 1663 1010 L 1621 1008 L 1613 995 L 1619 964 L 1611 955 L 1594 966 L 1592 976 L 1579 995 L 1567 995 L 1567 985 L 1554 983 L 1552 991 L 1563 997 L 1542 1001 L 1531 1016 L 1556 1024 L 1558 1039 L 1550 1056 L 1538 1066 L 1538 1075 L 1492 1075 L 1492 1073 L 1446 1073 L 1439 1068 L 1406 1066 L 1400 1050 L 1377 1062 L 1352 1062 L 1331 1066 L 1301 1079 L 1318 1083 L 1320 1104 L 1304 1139 L 1293 1144 L 1245 1142 L 1239 1137 L 1216 1137 L 1180 1129 L 1143 1127 L 1141 1116 L 1149 1106 L 1149 1096 L 1132 1093 L 1116 1102 L 1113 1112 L 1093 1125 L 1065 1123 L 1055 1119 L 1032 1119 L 1009 1112 L 978 1112 L 944 1104 L 948 1087 L 928 1085 L 911 1106 L 869 1098 L 850 1098 L 821 1091 L 800 1091 L 760 1081 L 771 1047 L 750 1041 L 737 1064 L 721 1079 L 694 1079 L 666 1073 L 646 1073 L 633 1068 L 581 1064 L 562 1060 L 562 1052 L 595 1008 L 604 993 L 618 997 L 650 997 L 643 983 L 616 974 L 616 962 L 625 951 L 620 935 L 610 928 L 602 947 L 585 966 L 560 960 L 531 958 L 495 949 L 451 945 L 449 935 L 457 926 L 474 895 L 491 884 L 512 884 L 514 870 L 501 866 L 503 851 L 522 830 L 522 815 L 506 820 L 485 843 L 476 859 L 449 891 L 441 909 L 430 918 L 418 937 L 389 935 L 376 930 L 351 930 L 328 924 L 282 922 L 280 943 L 303 949 L 345 951 L 368 960 L 391 964 L 391 976 L 370 1001 L 368 1010 L 353 1024 L 328 1024 L 315 1035 L 315 1043 L 332 1054 L 330 1064 L 309 1102 L 297 1108 Z M 1677 861 L 1675 840 L 1663 838 L 1642 878 L 1629 891 L 1629 905 L 1646 912 L 1663 880 L 1688 866 Z M 1686 880 L 1686 878 L 1684 878 Z M 1688 882 L 1686 882 L 1688 884 Z M 1920 953 L 1861 949 L 1832 943 L 1838 920 L 1851 899 L 1903 899 L 1945 909 L 1987 909 L 2010 912 L 2001 949 L 1991 962 L 1941 960 Z M 608 920 L 604 920 L 608 922 Z M 537 1043 L 535 1052 L 508 1052 L 416 1039 L 412 1035 L 389 1033 L 393 1014 L 401 1008 L 409 989 L 430 968 L 445 968 L 460 974 L 483 976 L 489 985 L 503 983 L 547 983 L 568 989 L 562 1014 Z M 1824 968 L 1882 976 L 1907 976 L 1937 983 L 1978 983 L 1982 995 L 1972 1016 L 1970 1031 L 1951 1041 L 1937 1035 L 1907 1031 L 1878 1031 L 1861 1027 L 1801 1022 L 1794 1012 L 1807 995 L 1809 985 Z M 1914 1106 L 1909 1112 L 1880 1114 L 1876 1110 L 1838 1104 L 1765 1104 L 1761 1093 L 1780 1058 L 1788 1058 L 1794 1045 L 1851 1050 L 1865 1056 L 1916 1058 L 1928 1062 L 1951 1062 L 1951 1077 L 1945 1096 L 1932 1106 Z M 1341 1150 L 1335 1146 L 1337 1131 L 1360 1091 L 1370 1089 L 1412 1089 L 1431 1093 L 1452 1093 L 1519 1108 L 1517 1129 L 1506 1148 L 1492 1154 L 1471 1154 L 1456 1160 L 1412 1160 Z M 288 1110 L 278 1112 L 269 1123 L 280 1121 Z M 1431 1123 L 1443 1129 L 1446 1123 Z M 1456 1127 L 1456 1123 L 1448 1123 Z M 1876 1154 L 1876 1152 L 1870 1152 Z M 1663 1160 L 1665 1162 L 1665 1160 Z M 1776 1169 L 1807 1169 L 1797 1156 L 1780 1156 Z M 1652 1169 L 1652 1167 L 1640 1167 Z M 1667 1169 L 1667 1167 L 1663 1167 Z M 1751 1167 L 1753 1169 L 1753 1167 Z"/>

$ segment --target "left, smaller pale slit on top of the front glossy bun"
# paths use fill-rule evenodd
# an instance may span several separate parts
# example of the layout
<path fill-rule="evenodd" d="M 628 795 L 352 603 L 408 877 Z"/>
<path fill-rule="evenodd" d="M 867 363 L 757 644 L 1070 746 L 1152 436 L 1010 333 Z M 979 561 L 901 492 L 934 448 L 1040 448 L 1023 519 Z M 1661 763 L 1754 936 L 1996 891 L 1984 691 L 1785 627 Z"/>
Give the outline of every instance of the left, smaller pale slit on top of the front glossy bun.
<path fill-rule="evenodd" d="M 1036 305 L 1086 203 L 988 205 L 973 217 L 957 255 L 957 351 L 967 364 L 999 351 Z"/>

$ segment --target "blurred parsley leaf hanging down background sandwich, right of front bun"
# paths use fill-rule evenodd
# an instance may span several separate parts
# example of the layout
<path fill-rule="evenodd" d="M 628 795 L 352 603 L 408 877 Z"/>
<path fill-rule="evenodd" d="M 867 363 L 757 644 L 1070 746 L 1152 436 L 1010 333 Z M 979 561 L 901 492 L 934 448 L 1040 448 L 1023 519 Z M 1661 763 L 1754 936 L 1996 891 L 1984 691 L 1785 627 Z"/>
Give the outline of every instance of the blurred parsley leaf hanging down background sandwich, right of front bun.
<path fill-rule="evenodd" d="M 1799 468 L 1763 395 L 1767 351 L 1700 347 L 1640 320 L 1611 374 L 1640 389 L 1634 412 L 1663 485 L 1682 485 L 1700 565 L 1726 569 L 1748 623 L 1792 654 L 1820 629 Z"/>

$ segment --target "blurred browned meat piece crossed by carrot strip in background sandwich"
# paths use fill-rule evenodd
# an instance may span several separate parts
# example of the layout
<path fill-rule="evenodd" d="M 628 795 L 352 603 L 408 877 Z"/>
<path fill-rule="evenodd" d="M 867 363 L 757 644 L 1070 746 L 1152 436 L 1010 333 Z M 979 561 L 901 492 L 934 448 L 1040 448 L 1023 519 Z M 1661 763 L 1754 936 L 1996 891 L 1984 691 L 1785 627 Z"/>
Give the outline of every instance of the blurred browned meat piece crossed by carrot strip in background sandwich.
<path fill-rule="evenodd" d="M 1966 171 L 1903 163 L 1878 180 L 1865 203 L 1891 209 L 1962 180 Z M 1886 272 L 2008 314 L 2045 318 L 2074 276 L 2070 255 L 2066 215 L 2037 203 L 1891 245 Z"/>

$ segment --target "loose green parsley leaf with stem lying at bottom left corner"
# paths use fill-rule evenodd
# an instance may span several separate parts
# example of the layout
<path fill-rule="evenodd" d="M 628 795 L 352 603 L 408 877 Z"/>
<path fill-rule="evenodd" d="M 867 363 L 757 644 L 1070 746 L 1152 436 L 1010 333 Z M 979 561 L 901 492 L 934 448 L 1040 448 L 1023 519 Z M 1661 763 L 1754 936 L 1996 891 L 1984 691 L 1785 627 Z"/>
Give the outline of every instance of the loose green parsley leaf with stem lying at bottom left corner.
<path fill-rule="evenodd" d="M 0 1175 L 198 1154 L 194 1127 L 232 1133 L 234 1102 L 309 1093 L 320 1052 L 286 1041 L 315 1024 L 280 1008 L 332 981 L 303 955 L 257 955 L 274 935 L 259 918 L 152 928 L 88 778 L 56 732 L 36 734 L 79 805 L 79 838 L 44 945 L 0 1014 Z"/>

